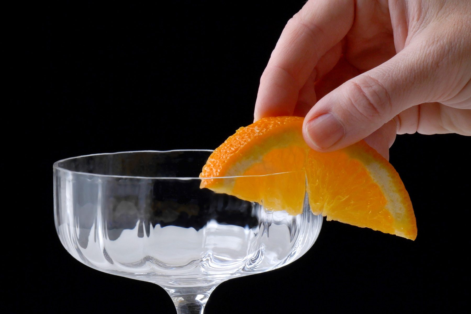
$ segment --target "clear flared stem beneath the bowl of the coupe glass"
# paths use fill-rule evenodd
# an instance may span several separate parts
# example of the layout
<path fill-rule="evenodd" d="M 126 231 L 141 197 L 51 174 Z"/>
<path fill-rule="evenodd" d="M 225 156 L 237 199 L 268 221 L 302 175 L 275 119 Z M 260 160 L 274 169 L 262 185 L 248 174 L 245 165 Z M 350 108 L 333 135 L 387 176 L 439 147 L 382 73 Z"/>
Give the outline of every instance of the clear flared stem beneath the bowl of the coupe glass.
<path fill-rule="evenodd" d="M 178 314 L 203 314 L 211 292 L 217 287 L 163 287 L 172 298 Z"/>

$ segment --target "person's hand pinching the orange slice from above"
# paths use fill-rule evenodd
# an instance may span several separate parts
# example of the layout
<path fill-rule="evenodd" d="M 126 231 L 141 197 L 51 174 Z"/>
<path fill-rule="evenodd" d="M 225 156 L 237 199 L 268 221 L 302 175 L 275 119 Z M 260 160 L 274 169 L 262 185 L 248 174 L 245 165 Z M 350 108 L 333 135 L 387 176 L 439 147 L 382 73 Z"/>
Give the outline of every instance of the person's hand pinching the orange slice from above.
<path fill-rule="evenodd" d="M 260 79 L 254 118 L 305 116 L 306 143 L 361 139 L 385 158 L 396 134 L 471 136 L 471 1 L 309 0 Z"/>

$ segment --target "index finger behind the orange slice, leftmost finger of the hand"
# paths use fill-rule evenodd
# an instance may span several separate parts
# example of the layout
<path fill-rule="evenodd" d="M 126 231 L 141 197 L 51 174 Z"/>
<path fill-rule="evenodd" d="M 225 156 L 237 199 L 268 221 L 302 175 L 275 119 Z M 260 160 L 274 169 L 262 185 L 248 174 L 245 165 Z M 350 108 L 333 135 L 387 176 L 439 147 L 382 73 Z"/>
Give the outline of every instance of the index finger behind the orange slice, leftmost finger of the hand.
<path fill-rule="evenodd" d="M 354 2 L 311 0 L 286 24 L 260 78 L 254 118 L 292 115 L 319 59 L 353 23 Z"/>

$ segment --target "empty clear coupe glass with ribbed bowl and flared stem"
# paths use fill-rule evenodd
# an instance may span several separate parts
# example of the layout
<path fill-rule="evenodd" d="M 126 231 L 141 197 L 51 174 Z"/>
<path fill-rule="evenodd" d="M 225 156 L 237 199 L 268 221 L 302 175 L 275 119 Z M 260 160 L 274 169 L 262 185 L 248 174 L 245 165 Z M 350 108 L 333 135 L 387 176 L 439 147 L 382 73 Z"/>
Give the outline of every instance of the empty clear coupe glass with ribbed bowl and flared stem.
<path fill-rule="evenodd" d="M 158 284 L 178 313 L 192 314 L 203 313 L 219 283 L 287 265 L 309 250 L 322 217 L 306 196 L 302 214 L 293 216 L 202 189 L 198 175 L 211 152 L 57 161 L 54 217 L 65 249 L 97 270 Z"/>

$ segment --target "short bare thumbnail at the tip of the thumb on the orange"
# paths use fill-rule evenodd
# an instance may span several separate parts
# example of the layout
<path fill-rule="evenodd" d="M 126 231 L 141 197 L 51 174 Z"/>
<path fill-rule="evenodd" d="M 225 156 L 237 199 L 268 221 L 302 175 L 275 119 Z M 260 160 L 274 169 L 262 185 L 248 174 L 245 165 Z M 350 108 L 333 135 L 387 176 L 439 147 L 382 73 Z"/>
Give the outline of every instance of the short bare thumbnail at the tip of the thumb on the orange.
<path fill-rule="evenodd" d="M 309 121 L 306 125 L 308 137 L 318 148 L 326 149 L 337 143 L 345 130 L 332 113 L 324 113 Z"/>

